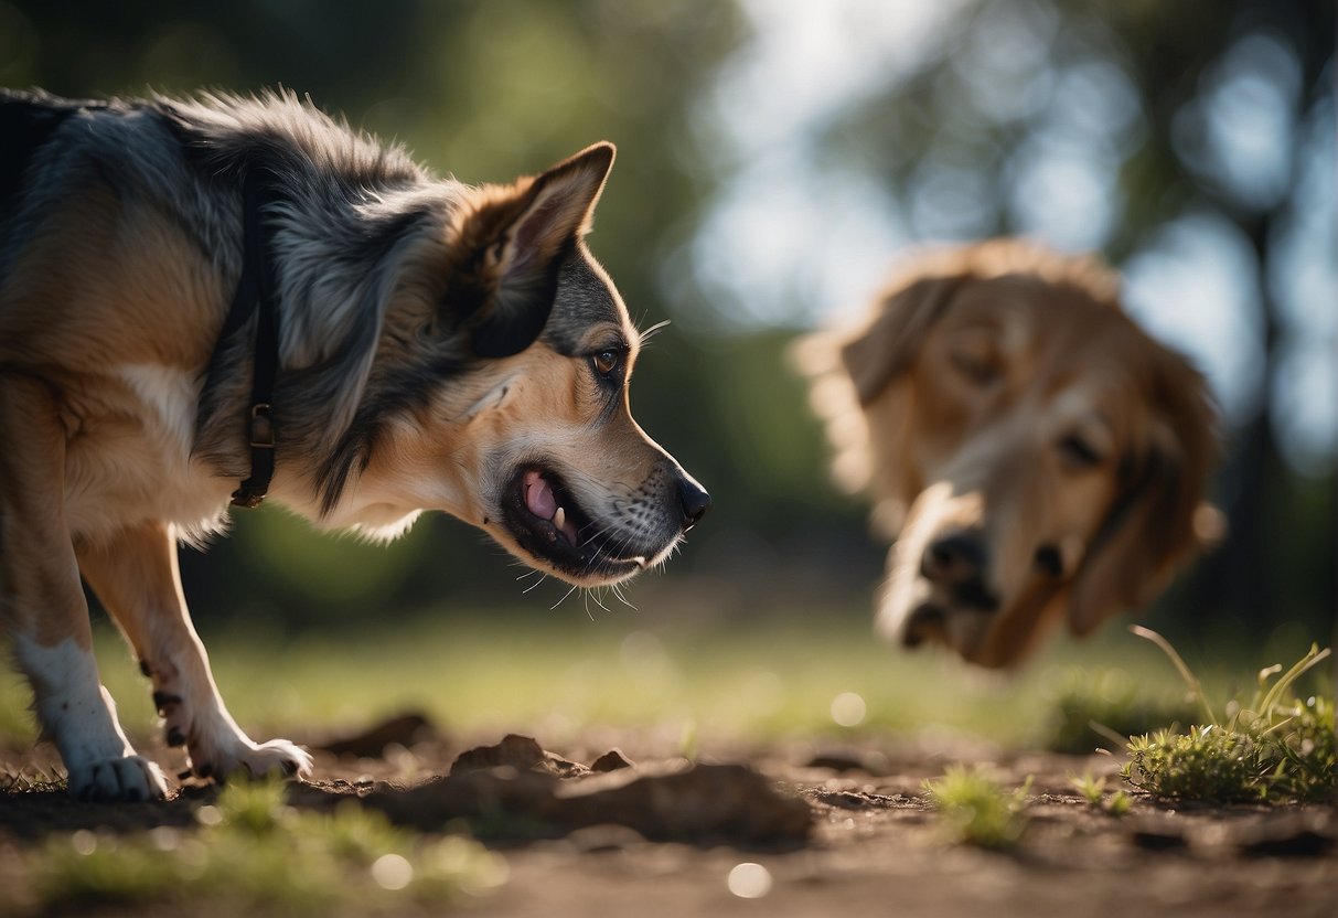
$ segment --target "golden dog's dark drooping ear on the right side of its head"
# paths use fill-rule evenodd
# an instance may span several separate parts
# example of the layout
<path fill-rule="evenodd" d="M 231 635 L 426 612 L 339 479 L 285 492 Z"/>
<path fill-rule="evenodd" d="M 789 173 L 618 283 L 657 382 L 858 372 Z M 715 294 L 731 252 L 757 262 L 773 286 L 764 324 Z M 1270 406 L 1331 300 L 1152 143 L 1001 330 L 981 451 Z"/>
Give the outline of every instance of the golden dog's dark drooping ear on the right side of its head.
<path fill-rule="evenodd" d="M 1202 502 L 1218 452 L 1216 412 L 1203 377 L 1156 349 L 1144 443 L 1124 458 L 1119 495 L 1069 591 L 1069 628 L 1078 637 L 1149 602 L 1180 562 L 1222 534 L 1220 514 Z"/>

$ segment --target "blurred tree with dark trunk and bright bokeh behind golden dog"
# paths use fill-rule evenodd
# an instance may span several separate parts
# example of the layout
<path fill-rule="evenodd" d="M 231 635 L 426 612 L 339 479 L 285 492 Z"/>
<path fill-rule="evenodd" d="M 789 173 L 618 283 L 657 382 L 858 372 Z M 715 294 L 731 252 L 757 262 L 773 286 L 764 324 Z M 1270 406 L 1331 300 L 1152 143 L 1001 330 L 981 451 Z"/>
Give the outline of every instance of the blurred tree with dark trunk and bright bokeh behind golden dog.
<path fill-rule="evenodd" d="M 1185 630 L 1235 618 L 1256 636 L 1301 616 L 1322 634 L 1335 608 L 1331 460 L 1318 480 L 1288 468 L 1271 397 L 1279 240 L 1306 203 L 1314 134 L 1333 128 L 1334 12 L 1313 0 L 981 0 L 826 138 L 882 171 L 917 236 L 1049 230 L 1116 264 L 1191 215 L 1246 241 L 1263 392 L 1230 436 L 1230 535 L 1176 597 Z M 1046 187 L 1061 181 L 1060 195 Z M 1036 213 L 1056 197 L 1068 225 Z"/>

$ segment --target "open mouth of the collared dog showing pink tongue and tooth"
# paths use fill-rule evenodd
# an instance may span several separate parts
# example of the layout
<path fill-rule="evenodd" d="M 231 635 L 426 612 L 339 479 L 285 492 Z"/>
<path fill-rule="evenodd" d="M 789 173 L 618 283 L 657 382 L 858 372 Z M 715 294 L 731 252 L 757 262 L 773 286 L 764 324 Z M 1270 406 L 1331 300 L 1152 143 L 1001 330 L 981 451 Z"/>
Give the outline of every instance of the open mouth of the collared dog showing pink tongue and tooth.
<path fill-rule="evenodd" d="M 619 539 L 601 531 L 562 479 L 547 468 L 522 466 L 506 488 L 502 510 L 520 547 L 566 578 L 607 581 L 646 566 L 641 555 L 615 555 Z"/>

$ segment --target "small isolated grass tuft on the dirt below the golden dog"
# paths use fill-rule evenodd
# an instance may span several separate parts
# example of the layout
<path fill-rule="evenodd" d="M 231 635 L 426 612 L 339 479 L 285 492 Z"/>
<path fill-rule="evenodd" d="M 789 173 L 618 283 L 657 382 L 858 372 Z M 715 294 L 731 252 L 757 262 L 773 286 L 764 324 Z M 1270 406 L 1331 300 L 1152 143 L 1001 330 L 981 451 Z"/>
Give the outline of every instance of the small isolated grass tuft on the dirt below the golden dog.
<path fill-rule="evenodd" d="M 925 782 L 930 803 L 943 815 L 955 840 L 995 851 L 1021 840 L 1030 787 L 1028 776 L 1022 787 L 1005 791 L 981 765 L 950 765 L 938 780 Z"/>

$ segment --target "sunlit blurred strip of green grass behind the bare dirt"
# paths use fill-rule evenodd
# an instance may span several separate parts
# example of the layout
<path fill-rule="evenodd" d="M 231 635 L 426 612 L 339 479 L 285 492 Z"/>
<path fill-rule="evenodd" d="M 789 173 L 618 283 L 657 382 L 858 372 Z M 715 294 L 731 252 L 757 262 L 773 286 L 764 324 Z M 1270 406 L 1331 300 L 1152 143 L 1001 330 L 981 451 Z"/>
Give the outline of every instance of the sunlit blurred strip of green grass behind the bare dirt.
<path fill-rule="evenodd" d="M 805 609 L 803 618 L 777 610 L 776 621 L 728 628 L 678 618 L 653 601 L 642 612 L 591 609 L 586 617 L 579 597 L 545 618 L 530 610 L 396 621 L 395 610 L 369 609 L 369 622 L 387 625 L 355 632 L 268 632 L 248 620 L 209 633 L 202 625 L 237 721 L 253 737 L 300 743 L 412 709 L 454 733 L 522 732 L 550 748 L 579 741 L 591 727 L 648 731 L 678 741 L 689 757 L 721 743 L 926 731 L 1036 748 L 1053 736 L 1057 699 L 1077 691 L 1080 673 L 1097 676 L 1088 680 L 1085 713 L 1070 720 L 1127 728 L 1121 736 L 1161 724 L 1116 723 L 1112 707 L 1183 693 L 1175 672 L 1155 665 L 1155 648 L 1117 630 L 1081 645 L 1054 641 L 1028 666 L 1001 674 L 947 652 L 890 648 L 863 612 L 847 609 Z M 106 622 L 95 634 L 122 724 L 136 743 L 159 741 L 149 685 L 123 641 Z M 1137 680 L 1127 674 L 1133 672 Z M 1220 684 L 1214 672 L 1206 676 Z M 31 696 L 11 680 L 15 691 L 0 691 L 0 744 L 25 748 L 36 733 Z M 850 696 L 859 704 L 834 708 Z M 1097 741 L 1078 740 L 1074 749 Z"/>

